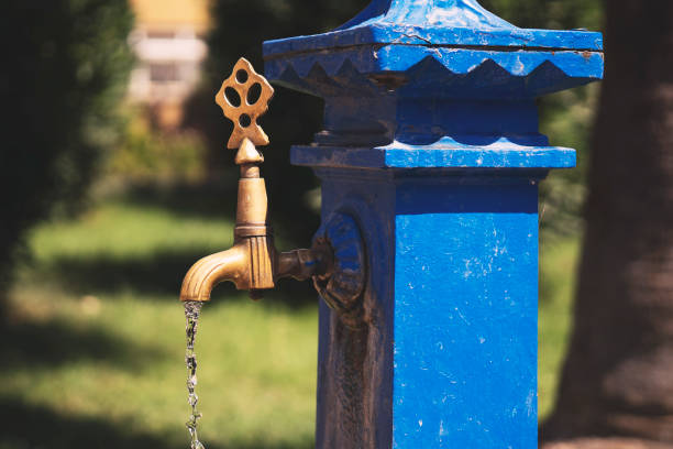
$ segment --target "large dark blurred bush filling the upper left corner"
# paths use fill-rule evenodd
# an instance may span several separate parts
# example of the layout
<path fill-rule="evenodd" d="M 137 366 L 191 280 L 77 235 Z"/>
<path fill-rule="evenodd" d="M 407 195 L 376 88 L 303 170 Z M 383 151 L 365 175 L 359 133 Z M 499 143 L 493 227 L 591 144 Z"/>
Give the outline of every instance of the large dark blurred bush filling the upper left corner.
<path fill-rule="evenodd" d="M 7 0 L 9 108 L 0 153 L 0 280 L 25 231 L 58 202 L 73 207 L 118 136 L 132 56 L 126 0 Z"/>

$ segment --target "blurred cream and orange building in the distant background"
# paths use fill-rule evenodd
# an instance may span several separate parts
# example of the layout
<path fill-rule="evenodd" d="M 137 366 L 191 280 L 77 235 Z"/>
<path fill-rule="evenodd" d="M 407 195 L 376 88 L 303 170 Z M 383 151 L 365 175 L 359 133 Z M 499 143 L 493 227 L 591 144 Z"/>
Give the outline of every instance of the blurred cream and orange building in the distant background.
<path fill-rule="evenodd" d="M 131 0 L 137 62 L 131 74 L 132 101 L 148 106 L 159 128 L 175 128 L 183 103 L 200 77 L 208 47 L 209 0 Z"/>

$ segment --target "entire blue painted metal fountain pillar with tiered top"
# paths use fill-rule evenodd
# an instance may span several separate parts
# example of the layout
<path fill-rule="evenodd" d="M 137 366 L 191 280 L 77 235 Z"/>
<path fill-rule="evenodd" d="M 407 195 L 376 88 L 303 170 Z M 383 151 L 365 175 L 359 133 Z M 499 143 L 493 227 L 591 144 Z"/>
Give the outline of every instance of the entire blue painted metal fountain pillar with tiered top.
<path fill-rule="evenodd" d="M 374 0 L 264 55 L 269 79 L 324 99 L 291 160 L 367 252 L 362 326 L 321 305 L 317 447 L 536 448 L 538 183 L 575 165 L 536 99 L 600 79 L 602 35 Z"/>

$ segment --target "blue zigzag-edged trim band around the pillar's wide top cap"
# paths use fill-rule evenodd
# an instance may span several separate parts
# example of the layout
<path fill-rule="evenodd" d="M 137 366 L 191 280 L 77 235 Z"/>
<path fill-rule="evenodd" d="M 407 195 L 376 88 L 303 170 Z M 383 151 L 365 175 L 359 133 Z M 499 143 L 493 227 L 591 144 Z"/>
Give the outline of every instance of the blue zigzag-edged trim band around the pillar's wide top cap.
<path fill-rule="evenodd" d="M 265 74 L 271 80 L 320 96 L 341 89 L 353 94 L 372 91 L 372 75 L 387 73 L 404 74 L 407 86 L 422 84 L 424 88 L 441 89 L 459 83 L 463 89 L 525 88 L 525 95 L 539 96 L 602 79 L 603 66 L 599 52 L 386 45 L 271 58 L 265 63 Z"/>

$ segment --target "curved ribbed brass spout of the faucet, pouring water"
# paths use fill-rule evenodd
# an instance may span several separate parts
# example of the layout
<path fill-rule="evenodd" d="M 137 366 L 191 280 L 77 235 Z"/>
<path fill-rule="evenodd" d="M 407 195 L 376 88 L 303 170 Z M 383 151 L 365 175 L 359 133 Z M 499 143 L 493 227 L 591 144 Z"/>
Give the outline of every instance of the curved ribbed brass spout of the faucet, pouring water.
<path fill-rule="evenodd" d="M 210 292 L 221 282 L 231 281 L 239 289 L 247 288 L 247 243 L 200 259 L 187 272 L 180 289 L 180 300 L 210 300 Z"/>

